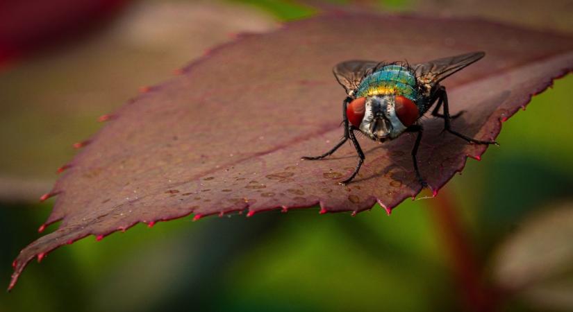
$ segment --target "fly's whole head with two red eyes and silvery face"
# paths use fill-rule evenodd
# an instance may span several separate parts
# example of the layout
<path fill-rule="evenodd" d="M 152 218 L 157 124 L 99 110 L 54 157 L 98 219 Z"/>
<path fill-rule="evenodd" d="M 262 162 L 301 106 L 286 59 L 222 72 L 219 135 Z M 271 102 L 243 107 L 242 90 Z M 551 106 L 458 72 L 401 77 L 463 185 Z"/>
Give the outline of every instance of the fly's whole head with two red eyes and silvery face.
<path fill-rule="evenodd" d="M 395 139 L 420 117 L 418 108 L 401 95 L 356 98 L 347 106 L 349 122 L 374 141 Z"/>

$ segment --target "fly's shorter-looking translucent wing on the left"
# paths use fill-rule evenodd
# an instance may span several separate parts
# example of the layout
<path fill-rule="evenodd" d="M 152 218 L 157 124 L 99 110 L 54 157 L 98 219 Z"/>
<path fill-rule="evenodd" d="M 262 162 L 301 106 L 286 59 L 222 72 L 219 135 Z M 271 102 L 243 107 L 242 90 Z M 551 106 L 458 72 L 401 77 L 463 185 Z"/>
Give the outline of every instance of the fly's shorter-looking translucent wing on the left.
<path fill-rule="evenodd" d="M 332 69 L 336 80 L 338 83 L 346 89 L 348 95 L 352 95 L 360 81 L 368 73 L 372 73 L 372 70 L 376 68 L 379 62 L 369 61 L 369 60 L 349 60 L 346 62 L 338 63 Z"/>

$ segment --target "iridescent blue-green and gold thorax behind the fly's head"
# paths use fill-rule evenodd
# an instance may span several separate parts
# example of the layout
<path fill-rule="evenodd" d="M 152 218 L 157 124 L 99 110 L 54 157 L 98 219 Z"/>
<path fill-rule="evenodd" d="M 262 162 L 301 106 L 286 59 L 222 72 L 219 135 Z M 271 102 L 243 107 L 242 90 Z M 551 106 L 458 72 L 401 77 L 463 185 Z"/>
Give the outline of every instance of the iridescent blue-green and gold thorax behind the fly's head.
<path fill-rule="evenodd" d="M 406 67 L 398 64 L 386 65 L 364 78 L 356 92 L 358 97 L 384 94 L 401 95 L 416 101 L 416 77 Z"/>

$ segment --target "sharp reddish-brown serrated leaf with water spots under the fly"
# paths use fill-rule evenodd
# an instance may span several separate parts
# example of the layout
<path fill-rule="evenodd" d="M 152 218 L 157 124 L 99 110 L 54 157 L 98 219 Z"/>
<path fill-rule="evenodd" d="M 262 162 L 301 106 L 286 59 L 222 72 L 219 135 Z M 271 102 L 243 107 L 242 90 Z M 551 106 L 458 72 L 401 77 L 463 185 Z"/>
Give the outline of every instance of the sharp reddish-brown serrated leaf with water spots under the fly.
<path fill-rule="evenodd" d="M 365 165 L 347 187 L 338 182 L 356 166 L 351 146 L 322 161 L 300 160 L 342 135 L 344 89 L 331 76 L 333 64 L 414 63 L 485 50 L 445 85 L 451 112 L 467 110 L 453 127 L 493 139 L 531 94 L 572 69 L 571 39 L 485 21 L 343 12 L 241 36 L 151 87 L 90 139 L 50 193 L 59 196 L 47 224 L 61 220 L 59 228 L 22 250 L 10 288 L 33 257 L 138 222 L 314 205 L 359 212 L 376 202 L 390 212 L 421 190 L 413 136 L 382 145 L 360 138 Z M 419 164 L 435 190 L 462 170 L 467 155 L 479 158 L 486 149 L 440 135 L 441 119 L 425 119 L 424 127 Z"/>

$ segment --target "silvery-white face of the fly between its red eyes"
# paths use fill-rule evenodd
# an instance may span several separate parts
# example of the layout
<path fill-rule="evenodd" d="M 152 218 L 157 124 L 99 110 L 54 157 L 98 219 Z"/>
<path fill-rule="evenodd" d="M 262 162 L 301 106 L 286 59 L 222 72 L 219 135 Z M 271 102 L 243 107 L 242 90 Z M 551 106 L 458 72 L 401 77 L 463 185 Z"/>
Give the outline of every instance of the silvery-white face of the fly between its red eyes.
<path fill-rule="evenodd" d="M 367 137 L 376 141 L 394 139 L 408 128 L 397 116 L 394 95 L 366 98 L 365 112 L 358 127 Z"/>

